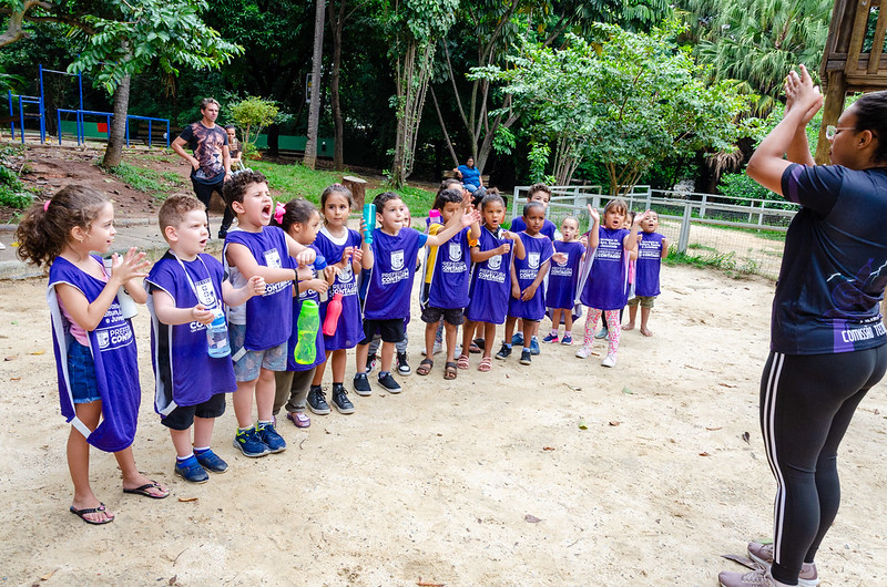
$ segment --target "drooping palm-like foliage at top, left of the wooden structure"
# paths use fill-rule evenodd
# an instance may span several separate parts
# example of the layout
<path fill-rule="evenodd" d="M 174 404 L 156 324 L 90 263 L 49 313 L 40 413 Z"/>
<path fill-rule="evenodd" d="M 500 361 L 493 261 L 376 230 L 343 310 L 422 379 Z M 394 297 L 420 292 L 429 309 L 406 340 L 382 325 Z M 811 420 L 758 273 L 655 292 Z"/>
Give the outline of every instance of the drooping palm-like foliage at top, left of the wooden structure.
<path fill-rule="evenodd" d="M 717 80 L 741 80 L 766 114 L 785 74 L 799 63 L 819 70 L 833 0 L 679 0 L 700 61 Z"/>

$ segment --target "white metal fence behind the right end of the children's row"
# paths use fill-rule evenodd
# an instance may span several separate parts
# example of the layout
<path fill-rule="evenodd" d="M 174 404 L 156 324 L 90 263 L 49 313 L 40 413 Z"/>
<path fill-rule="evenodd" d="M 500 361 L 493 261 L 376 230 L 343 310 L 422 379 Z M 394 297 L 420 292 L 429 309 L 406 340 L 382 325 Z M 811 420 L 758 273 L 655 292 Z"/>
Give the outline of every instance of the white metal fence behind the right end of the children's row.
<path fill-rule="evenodd" d="M 529 186 L 514 188 L 511 218 L 522 214 Z M 601 186 L 552 186 L 551 190 L 548 218 L 560 228 L 563 218 L 574 216 L 582 231 L 590 222 L 587 206 L 602 210 L 613 198 Z M 659 231 L 673 250 L 774 279 L 779 272 L 785 231 L 798 209 L 788 202 L 725 198 L 650 186 L 635 186 L 623 199 L 631 210 L 653 209 L 659 214 Z"/>

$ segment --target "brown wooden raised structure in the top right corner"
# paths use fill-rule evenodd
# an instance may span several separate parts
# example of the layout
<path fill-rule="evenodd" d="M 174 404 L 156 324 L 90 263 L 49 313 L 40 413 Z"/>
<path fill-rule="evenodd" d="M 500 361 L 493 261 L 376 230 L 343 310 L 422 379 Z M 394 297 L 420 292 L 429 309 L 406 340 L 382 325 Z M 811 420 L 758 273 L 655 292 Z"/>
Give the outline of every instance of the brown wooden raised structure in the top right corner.
<path fill-rule="evenodd" d="M 844 102 L 850 92 L 887 90 L 887 0 L 835 0 L 828 40 L 819 70 L 826 87 L 823 126 L 816 144 L 816 163 L 828 163 L 825 127 L 837 125 Z M 874 25 L 870 45 L 866 33 Z M 867 52 L 864 52 L 867 51 Z"/>

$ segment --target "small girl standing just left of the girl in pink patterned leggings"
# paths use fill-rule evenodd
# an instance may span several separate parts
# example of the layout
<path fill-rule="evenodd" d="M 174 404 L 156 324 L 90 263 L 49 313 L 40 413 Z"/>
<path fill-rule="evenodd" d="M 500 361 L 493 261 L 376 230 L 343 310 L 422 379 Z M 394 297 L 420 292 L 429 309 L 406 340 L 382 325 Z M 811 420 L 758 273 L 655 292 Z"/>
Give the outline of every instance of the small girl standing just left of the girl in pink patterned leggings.
<path fill-rule="evenodd" d="M 579 265 L 585 255 L 585 246 L 577 240 L 579 220 L 568 216 L 561 223 L 561 240 L 554 241 L 554 250 L 565 256 L 563 261 L 554 261 L 549 270 L 546 289 L 546 306 L 551 310 L 551 332 L 543 342 L 558 342 L 558 330 L 563 316 L 563 338 L 561 344 L 573 343 L 573 303 L 579 282 Z"/>

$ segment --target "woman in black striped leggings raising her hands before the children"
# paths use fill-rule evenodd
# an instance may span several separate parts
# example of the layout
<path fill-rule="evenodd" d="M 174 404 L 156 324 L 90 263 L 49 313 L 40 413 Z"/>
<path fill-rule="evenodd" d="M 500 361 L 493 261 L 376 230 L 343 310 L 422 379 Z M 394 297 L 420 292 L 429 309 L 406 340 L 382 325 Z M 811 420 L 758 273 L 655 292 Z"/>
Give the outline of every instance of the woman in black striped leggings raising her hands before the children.
<path fill-rule="evenodd" d="M 802 206 L 785 238 L 761 381 L 774 542 L 750 544 L 762 568 L 721 573 L 724 587 L 819 583 L 814 557 L 840 502 L 838 445 L 887 369 L 887 92 L 864 95 L 827 128 L 833 165 L 815 165 L 805 130 L 823 97 L 804 65 L 785 90 L 785 116 L 747 167 Z"/>

